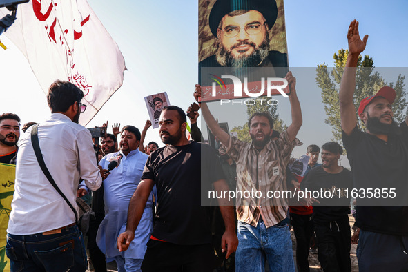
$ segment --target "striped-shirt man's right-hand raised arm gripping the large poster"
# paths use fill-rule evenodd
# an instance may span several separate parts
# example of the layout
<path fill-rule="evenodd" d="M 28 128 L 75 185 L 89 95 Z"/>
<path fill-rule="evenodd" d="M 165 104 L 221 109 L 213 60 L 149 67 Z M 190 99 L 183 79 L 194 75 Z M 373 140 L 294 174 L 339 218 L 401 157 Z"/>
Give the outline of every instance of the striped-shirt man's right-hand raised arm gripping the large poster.
<path fill-rule="evenodd" d="M 300 126 L 302 126 L 302 110 L 300 109 L 298 95 L 296 94 L 296 78 L 293 77 L 291 71 L 289 71 L 284 78 L 288 81 L 289 88 L 291 89 L 289 102 L 291 103 L 292 124 L 290 124 L 287 132 L 289 135 L 289 140 L 292 142 L 294 139 L 296 139 Z"/>

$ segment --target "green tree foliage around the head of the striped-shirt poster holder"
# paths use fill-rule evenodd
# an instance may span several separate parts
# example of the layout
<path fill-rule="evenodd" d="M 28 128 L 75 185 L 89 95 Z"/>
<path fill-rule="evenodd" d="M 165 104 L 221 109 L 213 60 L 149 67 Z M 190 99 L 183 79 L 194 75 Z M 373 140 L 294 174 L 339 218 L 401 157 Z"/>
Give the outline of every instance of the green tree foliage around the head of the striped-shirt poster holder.
<path fill-rule="evenodd" d="M 264 100 L 261 100 L 264 99 Z M 269 105 L 268 101 L 270 101 L 272 97 L 259 97 L 259 99 L 255 99 L 255 104 L 253 105 L 247 105 L 246 106 L 246 122 L 242 124 L 241 126 L 234 126 L 231 129 L 231 132 L 237 132 L 238 133 L 238 139 L 244 142 L 251 142 L 251 136 L 249 135 L 249 127 L 248 127 L 248 119 L 251 117 L 254 113 L 261 113 L 261 112 L 267 112 L 271 114 L 273 118 L 273 130 L 277 130 L 279 132 L 282 132 L 287 128 L 286 124 L 284 124 L 284 121 L 279 117 L 279 113 L 276 112 L 278 109 L 278 105 Z M 269 102 L 270 104 L 273 104 L 273 102 Z"/>

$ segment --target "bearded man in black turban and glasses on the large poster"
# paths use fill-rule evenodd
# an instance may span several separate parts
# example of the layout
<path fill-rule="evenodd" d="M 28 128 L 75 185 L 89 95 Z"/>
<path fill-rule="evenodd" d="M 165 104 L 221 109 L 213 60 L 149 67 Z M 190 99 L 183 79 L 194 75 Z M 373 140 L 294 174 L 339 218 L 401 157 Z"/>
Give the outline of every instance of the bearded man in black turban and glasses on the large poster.
<path fill-rule="evenodd" d="M 217 0 L 209 15 L 215 55 L 201 67 L 287 67 L 287 55 L 269 51 L 269 30 L 278 17 L 275 0 Z"/>

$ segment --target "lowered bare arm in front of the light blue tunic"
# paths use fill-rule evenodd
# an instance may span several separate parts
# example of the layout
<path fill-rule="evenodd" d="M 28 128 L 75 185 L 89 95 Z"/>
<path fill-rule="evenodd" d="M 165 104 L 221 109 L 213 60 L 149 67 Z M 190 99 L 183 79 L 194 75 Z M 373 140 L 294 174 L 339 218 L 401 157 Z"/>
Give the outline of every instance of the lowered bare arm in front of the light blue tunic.
<path fill-rule="evenodd" d="M 126 231 L 117 237 L 117 248 L 119 251 L 126 251 L 129 248 L 130 242 L 135 238 L 135 231 L 142 218 L 144 206 L 153 189 L 155 183 L 152 179 L 142 180 L 130 198 L 128 208 L 128 221 L 126 223 Z"/>

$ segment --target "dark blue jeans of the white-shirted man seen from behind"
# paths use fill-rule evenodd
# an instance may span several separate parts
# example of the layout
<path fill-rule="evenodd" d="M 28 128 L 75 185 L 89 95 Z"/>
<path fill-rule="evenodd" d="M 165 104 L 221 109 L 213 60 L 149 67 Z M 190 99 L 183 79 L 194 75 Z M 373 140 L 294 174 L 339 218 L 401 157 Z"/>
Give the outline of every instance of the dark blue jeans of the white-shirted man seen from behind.
<path fill-rule="evenodd" d="M 77 226 L 61 233 L 7 235 L 7 257 L 11 271 L 86 271 L 84 239 Z"/>

